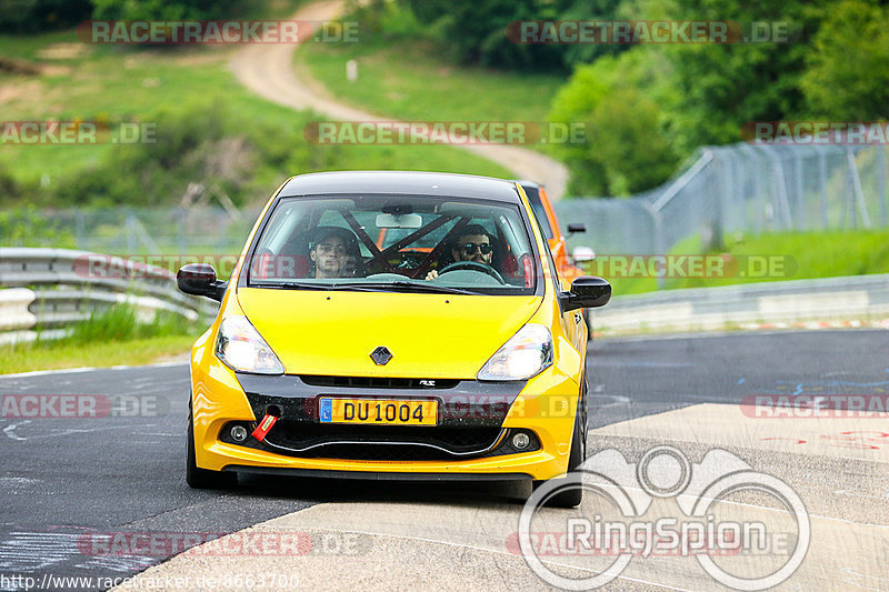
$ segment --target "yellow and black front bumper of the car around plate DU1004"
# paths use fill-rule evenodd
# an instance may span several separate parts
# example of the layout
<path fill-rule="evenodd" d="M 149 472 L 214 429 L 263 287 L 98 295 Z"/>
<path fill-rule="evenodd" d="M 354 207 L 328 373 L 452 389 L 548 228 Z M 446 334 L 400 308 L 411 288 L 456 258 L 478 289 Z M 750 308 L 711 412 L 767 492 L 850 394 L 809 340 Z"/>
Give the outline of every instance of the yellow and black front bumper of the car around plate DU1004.
<path fill-rule="evenodd" d="M 579 378 L 578 378 L 579 379 Z M 312 382 L 311 384 L 309 382 Z M 339 385 L 317 383 L 296 375 L 261 377 L 236 374 L 214 357 L 192 363 L 192 408 L 196 460 L 199 466 L 217 471 L 286 472 L 380 479 L 551 479 L 565 474 L 577 410 L 579 380 L 550 368 L 525 383 L 453 381 L 446 388 L 388 388 L 378 385 Z M 488 431 L 496 438 L 492 448 L 469 454 L 363 454 L 383 448 L 373 442 L 352 442 L 352 452 L 342 444 L 318 444 L 319 428 L 344 427 L 318 423 L 318 398 L 379 397 L 433 398 L 439 400 L 437 428 L 410 428 L 423 435 L 451 430 L 465 434 Z M 276 409 L 277 408 L 277 409 Z M 269 433 L 268 442 L 249 438 L 242 444 L 228 437 L 231 422 L 254 422 L 272 409 L 281 420 Z M 306 427 L 309 430 L 299 430 Z M 360 428 L 356 432 L 360 432 Z M 368 427 L 369 428 L 369 427 Z M 509 448 L 509 434 L 532 434 L 536 450 L 516 452 Z M 312 432 L 313 444 L 297 442 L 287 433 Z M 402 430 L 403 431 L 403 430 Z M 421 432 L 422 431 L 422 432 Z M 398 430 L 384 439 L 397 438 Z M 359 435 L 361 435 L 359 433 Z M 363 434 L 370 440 L 374 437 Z M 323 440 L 323 439 L 322 439 Z M 378 438 L 379 440 L 379 438 Z M 482 439 L 479 440 L 481 442 Z M 391 443 L 391 442 L 387 442 Z M 380 444 L 380 442 L 377 442 Z M 439 446 L 441 448 L 441 446 Z M 444 445 L 444 449 L 449 446 Z M 406 448 L 393 449 L 406 450 Z M 358 451 L 356 453 L 354 451 Z M 451 451 L 452 452 L 452 451 Z M 447 475 L 447 476 L 446 476 Z"/>

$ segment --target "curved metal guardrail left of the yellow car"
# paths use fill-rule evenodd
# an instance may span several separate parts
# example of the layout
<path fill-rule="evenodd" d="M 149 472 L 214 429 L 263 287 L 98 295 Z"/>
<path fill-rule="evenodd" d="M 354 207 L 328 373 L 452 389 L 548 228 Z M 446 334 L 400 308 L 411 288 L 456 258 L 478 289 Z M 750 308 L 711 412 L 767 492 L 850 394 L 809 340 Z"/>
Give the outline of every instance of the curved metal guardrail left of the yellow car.
<path fill-rule="evenodd" d="M 0 343 L 33 341 L 38 330 L 40 339 L 63 337 L 114 304 L 132 305 L 141 322 L 159 311 L 209 322 L 218 310 L 181 293 L 163 268 L 89 251 L 0 248 Z"/>

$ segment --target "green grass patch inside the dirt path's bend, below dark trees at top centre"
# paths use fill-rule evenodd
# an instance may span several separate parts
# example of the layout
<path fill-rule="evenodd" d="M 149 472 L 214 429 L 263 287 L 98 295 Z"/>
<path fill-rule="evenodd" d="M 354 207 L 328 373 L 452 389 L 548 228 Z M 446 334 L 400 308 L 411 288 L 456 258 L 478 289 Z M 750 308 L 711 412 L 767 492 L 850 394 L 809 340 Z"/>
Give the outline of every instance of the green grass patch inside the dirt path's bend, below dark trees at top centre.
<path fill-rule="evenodd" d="M 352 59 L 356 82 L 346 79 Z M 338 99 L 398 120 L 545 122 L 565 82 L 559 76 L 455 66 L 430 42 L 413 39 L 307 43 L 296 60 Z"/>

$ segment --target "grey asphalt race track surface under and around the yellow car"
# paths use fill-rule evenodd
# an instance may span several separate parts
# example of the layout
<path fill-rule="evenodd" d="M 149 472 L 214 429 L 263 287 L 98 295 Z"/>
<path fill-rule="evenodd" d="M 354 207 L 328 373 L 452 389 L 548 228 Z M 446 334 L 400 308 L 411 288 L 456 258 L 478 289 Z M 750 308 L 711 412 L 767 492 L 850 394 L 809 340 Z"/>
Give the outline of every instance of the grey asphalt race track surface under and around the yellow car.
<path fill-rule="evenodd" d="M 811 516 L 808 555 L 780 589 L 886 590 L 886 414 L 760 419 L 739 403 L 763 393 L 885 395 L 888 351 L 881 330 L 597 341 L 588 360 L 588 445 L 630 462 L 656 444 L 693 462 L 727 450 L 790 485 Z M 257 476 L 227 492 L 188 489 L 187 389 L 186 364 L 0 378 L 4 397 L 92 394 L 113 405 L 94 419 L 0 419 L 0 589 L 24 590 L 16 576 L 44 590 L 101 589 L 43 579 L 124 578 L 147 568 L 137 580 L 142 589 L 164 588 L 161 579 L 173 575 L 191 580 L 167 590 L 550 588 L 510 544 L 530 493 L 521 485 Z M 736 505 L 747 519 L 773 511 L 756 499 Z M 196 535 L 206 541 L 252 525 L 248 533 L 278 544 L 296 533 L 301 551 L 210 541 L 179 554 Z M 136 544 L 147 540 L 157 544 Z M 551 561 L 563 574 L 590 573 L 577 558 Z M 209 580 L 226 574 L 226 585 Z M 254 585 L 243 585 L 248 575 Z M 261 576 L 278 580 L 261 586 Z M 280 585 L 288 576 L 290 585 Z M 651 556 L 635 558 L 606 589 L 726 588 L 693 559 Z"/>

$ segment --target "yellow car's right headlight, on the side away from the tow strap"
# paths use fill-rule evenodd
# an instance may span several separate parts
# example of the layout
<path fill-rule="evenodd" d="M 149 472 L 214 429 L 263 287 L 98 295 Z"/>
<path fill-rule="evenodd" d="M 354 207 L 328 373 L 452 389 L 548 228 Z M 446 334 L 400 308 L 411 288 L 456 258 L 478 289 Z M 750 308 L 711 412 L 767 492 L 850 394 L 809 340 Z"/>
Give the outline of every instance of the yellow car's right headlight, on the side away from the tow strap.
<path fill-rule="evenodd" d="M 479 380 L 526 380 L 552 365 L 552 334 L 526 324 L 479 370 Z"/>

